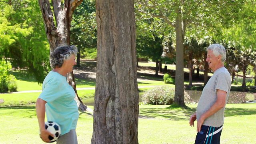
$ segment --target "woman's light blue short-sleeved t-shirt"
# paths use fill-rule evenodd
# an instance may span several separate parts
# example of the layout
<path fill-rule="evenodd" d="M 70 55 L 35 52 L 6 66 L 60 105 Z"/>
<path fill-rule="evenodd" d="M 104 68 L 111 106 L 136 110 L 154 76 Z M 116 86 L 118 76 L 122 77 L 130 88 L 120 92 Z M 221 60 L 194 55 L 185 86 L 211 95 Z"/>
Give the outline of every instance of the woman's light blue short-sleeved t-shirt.
<path fill-rule="evenodd" d="M 47 102 L 47 120 L 59 124 L 62 135 L 76 129 L 79 113 L 74 97 L 75 91 L 67 83 L 66 77 L 50 71 L 44 79 L 42 93 L 38 98 Z"/>

